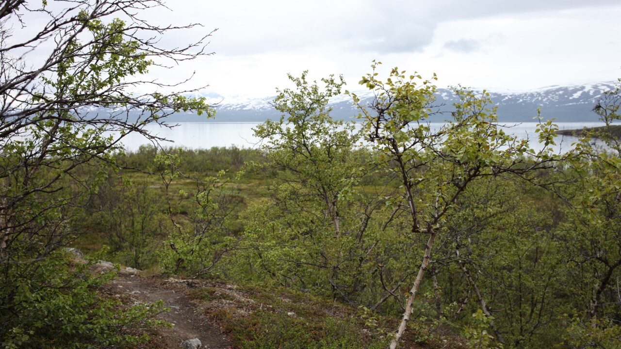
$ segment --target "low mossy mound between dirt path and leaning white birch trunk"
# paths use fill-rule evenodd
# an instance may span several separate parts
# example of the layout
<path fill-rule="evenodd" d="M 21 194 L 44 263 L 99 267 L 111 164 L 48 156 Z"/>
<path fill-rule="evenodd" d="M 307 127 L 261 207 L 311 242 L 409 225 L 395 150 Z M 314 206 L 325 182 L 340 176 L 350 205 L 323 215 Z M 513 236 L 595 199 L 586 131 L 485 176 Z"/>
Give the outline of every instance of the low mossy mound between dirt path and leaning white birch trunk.
<path fill-rule="evenodd" d="M 235 296 L 231 296 L 231 293 Z M 219 304 L 209 316 L 240 349 L 386 348 L 388 338 L 371 335 L 357 309 L 305 292 L 266 284 L 248 284 L 234 291 L 193 292 Z M 220 299 L 218 297 L 221 297 Z M 235 298 L 230 304 L 227 301 Z M 222 303 L 227 306 L 222 306 Z"/>

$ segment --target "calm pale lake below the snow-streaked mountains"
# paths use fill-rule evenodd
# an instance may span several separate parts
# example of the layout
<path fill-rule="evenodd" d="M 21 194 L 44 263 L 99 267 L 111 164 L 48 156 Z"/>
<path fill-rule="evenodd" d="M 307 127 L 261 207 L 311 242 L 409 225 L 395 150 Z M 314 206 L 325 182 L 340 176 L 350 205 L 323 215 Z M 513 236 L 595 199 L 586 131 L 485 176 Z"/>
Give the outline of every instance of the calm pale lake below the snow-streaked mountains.
<path fill-rule="evenodd" d="M 253 137 L 253 127 L 257 122 L 180 122 L 178 126 L 168 129 L 159 125 L 148 125 L 146 128 L 159 137 L 166 138 L 171 142 L 162 142 L 162 145 L 171 147 L 184 147 L 191 149 L 211 147 L 257 148 L 260 139 Z M 529 138 L 531 147 L 535 150 L 541 148 L 537 143 L 535 129 L 536 122 L 502 123 L 507 126 L 507 134 L 517 135 L 520 138 Z M 561 130 L 581 129 L 582 127 L 601 126 L 601 122 L 557 122 Z M 432 127 L 440 127 L 442 124 L 431 124 Z M 576 137 L 559 136 L 556 138 L 557 152 L 568 150 Z M 129 151 L 138 150 L 140 145 L 150 142 L 139 134 L 130 134 L 125 137 L 124 145 Z"/>

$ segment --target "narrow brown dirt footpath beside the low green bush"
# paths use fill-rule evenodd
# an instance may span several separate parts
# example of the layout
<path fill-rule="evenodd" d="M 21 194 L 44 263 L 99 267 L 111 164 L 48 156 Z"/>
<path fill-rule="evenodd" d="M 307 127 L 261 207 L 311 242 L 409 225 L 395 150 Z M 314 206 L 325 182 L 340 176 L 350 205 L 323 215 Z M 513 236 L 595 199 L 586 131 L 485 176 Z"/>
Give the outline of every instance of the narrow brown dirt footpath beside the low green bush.
<path fill-rule="evenodd" d="M 173 327 L 160 329 L 157 335 L 151 335 L 152 340 L 145 348 L 179 348 L 181 342 L 192 338 L 201 340 L 203 348 L 230 348 L 225 335 L 206 316 L 200 314 L 197 304 L 190 301 L 183 290 L 140 276 L 119 276 L 110 287 L 112 292 L 130 301 L 153 303 L 161 300 L 165 307 L 170 308 L 170 312 L 160 314 L 159 317 L 173 324 Z"/>

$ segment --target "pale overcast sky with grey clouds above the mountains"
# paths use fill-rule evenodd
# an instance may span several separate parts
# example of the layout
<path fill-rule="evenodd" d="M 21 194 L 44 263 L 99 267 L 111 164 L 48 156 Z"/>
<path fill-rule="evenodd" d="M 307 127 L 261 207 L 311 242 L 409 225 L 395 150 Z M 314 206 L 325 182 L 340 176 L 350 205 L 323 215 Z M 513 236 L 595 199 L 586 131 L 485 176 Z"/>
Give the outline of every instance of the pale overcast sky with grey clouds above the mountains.
<path fill-rule="evenodd" d="M 38 1 L 38 0 L 34 0 Z M 140 14 L 156 25 L 200 23 L 169 32 L 170 47 L 217 29 L 214 55 L 152 68 L 150 78 L 221 96 L 273 96 L 287 74 L 342 74 L 361 89 L 371 61 L 439 87 L 530 91 L 621 77 L 619 0 L 168 0 Z M 208 86 L 207 86 L 208 85 Z"/>

